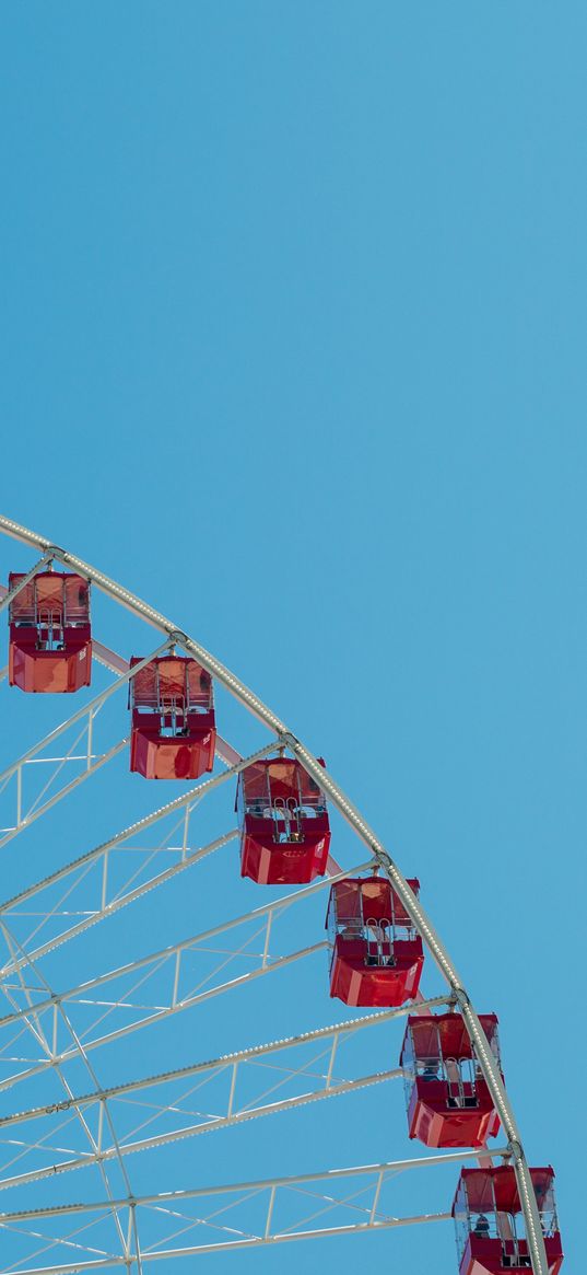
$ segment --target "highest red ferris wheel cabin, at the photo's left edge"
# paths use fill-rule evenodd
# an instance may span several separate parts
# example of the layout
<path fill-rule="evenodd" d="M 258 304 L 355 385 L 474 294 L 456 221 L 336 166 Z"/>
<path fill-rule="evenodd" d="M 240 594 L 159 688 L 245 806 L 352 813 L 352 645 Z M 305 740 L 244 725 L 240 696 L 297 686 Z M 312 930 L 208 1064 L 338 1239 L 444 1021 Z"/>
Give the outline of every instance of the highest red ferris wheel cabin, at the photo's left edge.
<path fill-rule="evenodd" d="M 9 590 L 24 579 L 10 572 Z M 39 571 L 10 602 L 8 678 L 22 691 L 66 694 L 92 680 L 89 581 Z"/>

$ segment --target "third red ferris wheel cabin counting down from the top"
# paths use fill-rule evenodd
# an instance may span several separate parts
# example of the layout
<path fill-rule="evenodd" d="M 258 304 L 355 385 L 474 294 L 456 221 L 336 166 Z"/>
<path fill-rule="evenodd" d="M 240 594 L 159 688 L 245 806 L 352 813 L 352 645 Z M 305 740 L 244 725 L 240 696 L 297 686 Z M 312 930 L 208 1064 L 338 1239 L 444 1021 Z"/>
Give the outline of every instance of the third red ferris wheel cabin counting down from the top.
<path fill-rule="evenodd" d="M 299 761 L 255 761 L 238 779 L 241 875 L 260 885 L 323 876 L 330 848 L 326 798 Z"/>

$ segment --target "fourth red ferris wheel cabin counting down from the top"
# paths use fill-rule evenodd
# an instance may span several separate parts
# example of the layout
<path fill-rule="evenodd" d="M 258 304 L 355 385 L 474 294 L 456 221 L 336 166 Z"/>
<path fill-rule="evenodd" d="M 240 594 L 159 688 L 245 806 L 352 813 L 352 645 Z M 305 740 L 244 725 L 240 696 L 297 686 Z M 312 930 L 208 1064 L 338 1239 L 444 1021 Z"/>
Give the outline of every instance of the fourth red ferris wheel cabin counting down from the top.
<path fill-rule="evenodd" d="M 418 894 L 420 882 L 407 882 Z M 404 1005 L 418 992 L 424 954 L 387 877 L 348 877 L 330 891 L 330 994 L 345 1005 Z"/>

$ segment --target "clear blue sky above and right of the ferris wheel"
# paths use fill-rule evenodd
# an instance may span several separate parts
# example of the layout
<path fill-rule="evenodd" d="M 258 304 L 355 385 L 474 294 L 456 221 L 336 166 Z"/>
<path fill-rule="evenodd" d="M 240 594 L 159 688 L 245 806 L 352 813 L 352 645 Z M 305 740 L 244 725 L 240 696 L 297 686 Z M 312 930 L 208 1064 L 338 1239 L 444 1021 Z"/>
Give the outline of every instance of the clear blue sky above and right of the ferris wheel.
<path fill-rule="evenodd" d="M 569 1275 L 586 37 L 578 0 L 0 14 L 4 513 L 214 650 L 419 875 L 499 1015 Z M 369 1154 L 355 1132 L 306 1151 L 292 1172 Z M 421 1267 L 395 1233 L 378 1260 L 430 1270 L 429 1229 Z M 350 1270 L 369 1244 L 279 1264 Z"/>

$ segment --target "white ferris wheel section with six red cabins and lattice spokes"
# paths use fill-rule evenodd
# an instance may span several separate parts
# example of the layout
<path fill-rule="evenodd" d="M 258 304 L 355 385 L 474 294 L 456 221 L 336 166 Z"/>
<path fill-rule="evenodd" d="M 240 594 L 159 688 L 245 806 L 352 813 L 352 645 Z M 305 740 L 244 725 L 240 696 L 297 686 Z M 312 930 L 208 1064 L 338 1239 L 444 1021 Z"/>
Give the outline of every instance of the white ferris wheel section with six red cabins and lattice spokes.
<path fill-rule="evenodd" d="M 418 1225 L 460 1275 L 556 1275 L 554 1173 L 425 881 L 190 635 L 0 530 L 0 1275 L 285 1271 Z"/>

